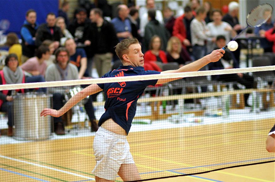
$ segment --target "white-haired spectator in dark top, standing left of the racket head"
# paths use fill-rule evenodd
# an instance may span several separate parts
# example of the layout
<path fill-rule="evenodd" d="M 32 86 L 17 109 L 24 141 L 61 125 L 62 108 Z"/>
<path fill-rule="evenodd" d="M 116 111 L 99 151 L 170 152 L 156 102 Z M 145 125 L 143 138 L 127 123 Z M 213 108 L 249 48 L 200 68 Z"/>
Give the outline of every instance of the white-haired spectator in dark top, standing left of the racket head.
<path fill-rule="evenodd" d="M 222 19 L 222 21 L 229 23 L 237 33 L 242 30 L 238 19 L 238 14 L 239 3 L 232 1 L 228 4 L 228 13 L 224 15 Z"/>

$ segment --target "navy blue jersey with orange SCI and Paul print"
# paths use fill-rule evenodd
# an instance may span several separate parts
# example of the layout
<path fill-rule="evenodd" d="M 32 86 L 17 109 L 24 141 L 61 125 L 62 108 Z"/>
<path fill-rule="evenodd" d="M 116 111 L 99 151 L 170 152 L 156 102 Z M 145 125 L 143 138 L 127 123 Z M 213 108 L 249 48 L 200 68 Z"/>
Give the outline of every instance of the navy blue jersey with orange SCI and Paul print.
<path fill-rule="evenodd" d="M 141 66 L 119 66 L 117 70 L 106 73 L 102 78 L 152 74 L 160 74 L 160 72 L 145 71 Z M 101 126 L 104 121 L 112 118 L 128 134 L 135 116 L 138 98 L 146 86 L 154 86 L 156 83 L 157 80 L 98 83 L 97 85 L 103 89 L 106 98 L 105 113 L 99 119 L 98 125 Z"/>

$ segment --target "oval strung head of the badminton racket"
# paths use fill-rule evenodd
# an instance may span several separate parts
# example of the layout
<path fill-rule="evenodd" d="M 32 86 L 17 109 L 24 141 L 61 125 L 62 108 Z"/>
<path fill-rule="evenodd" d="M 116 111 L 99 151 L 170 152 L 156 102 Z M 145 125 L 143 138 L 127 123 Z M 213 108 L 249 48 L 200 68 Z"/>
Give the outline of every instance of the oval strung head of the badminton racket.
<path fill-rule="evenodd" d="M 264 3 L 256 8 L 252 9 L 252 11 L 246 17 L 246 23 L 250 27 L 259 27 L 262 24 L 266 23 L 267 20 L 272 15 L 273 8 L 270 4 Z"/>

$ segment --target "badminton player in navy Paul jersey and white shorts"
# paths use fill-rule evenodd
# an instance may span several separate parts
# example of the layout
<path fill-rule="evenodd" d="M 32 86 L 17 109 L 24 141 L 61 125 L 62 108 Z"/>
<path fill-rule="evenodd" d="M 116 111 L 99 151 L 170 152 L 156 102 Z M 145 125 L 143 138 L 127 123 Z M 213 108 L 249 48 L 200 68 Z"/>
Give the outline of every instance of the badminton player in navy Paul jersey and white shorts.
<path fill-rule="evenodd" d="M 124 39 L 116 45 L 116 54 L 122 61 L 123 66 L 120 66 L 117 70 L 106 73 L 102 77 L 197 71 L 210 62 L 220 60 L 223 53 L 225 53 L 223 49 L 214 50 L 211 54 L 189 65 L 185 65 L 178 70 L 162 72 L 145 71 L 143 68 L 143 53 L 138 40 L 135 38 Z M 96 132 L 93 143 L 96 159 L 96 167 L 93 173 L 96 176 L 96 181 L 114 181 L 117 174 L 124 181 L 141 180 L 126 140 L 131 122 L 135 116 L 137 100 L 146 86 L 163 84 L 176 79 L 177 78 L 92 84 L 73 96 L 60 110 L 45 108 L 40 116 L 51 115 L 59 117 L 86 96 L 103 90 L 106 96 L 104 106 L 106 111 L 99 120 L 98 125 L 100 127 Z"/>

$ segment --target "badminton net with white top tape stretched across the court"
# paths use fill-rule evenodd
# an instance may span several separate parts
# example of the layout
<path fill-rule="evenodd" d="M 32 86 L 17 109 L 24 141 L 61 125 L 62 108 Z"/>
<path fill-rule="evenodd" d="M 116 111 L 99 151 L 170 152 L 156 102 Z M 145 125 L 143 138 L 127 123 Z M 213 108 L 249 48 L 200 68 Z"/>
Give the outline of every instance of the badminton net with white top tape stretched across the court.
<path fill-rule="evenodd" d="M 275 66 L 265 66 L 2 85 L 0 90 L 17 93 L 9 92 L 11 110 L 0 114 L 1 181 L 93 181 L 91 170 L 98 160 L 94 150 L 113 151 L 102 138 L 95 144 L 96 132 L 91 131 L 106 112 L 108 96 L 129 103 L 121 94 L 127 88 L 121 82 L 132 83 L 135 92 L 139 82 L 179 77 L 184 78 L 147 86 L 136 103 L 127 141 L 142 180 L 272 162 L 274 154 L 266 151 L 266 138 L 275 118 L 274 70 Z M 236 77 L 240 73 L 242 81 Z M 120 84 L 105 94 L 86 97 L 58 119 L 39 116 L 45 107 L 62 107 L 85 84 L 110 82 Z M 47 87 L 47 92 L 37 92 L 40 87 Z M 18 93 L 22 88 L 25 93 Z M 3 102 L 2 108 L 6 105 Z M 6 136 L 10 111 L 13 137 Z M 121 111 L 113 112 L 126 114 Z M 64 128 L 64 135 L 57 135 L 58 128 L 61 132 Z M 106 165 L 115 165 L 118 156 L 129 160 L 124 152 L 110 155 L 112 162 Z M 111 174 L 104 168 L 100 171 Z M 116 181 L 122 179 L 117 175 Z"/>

